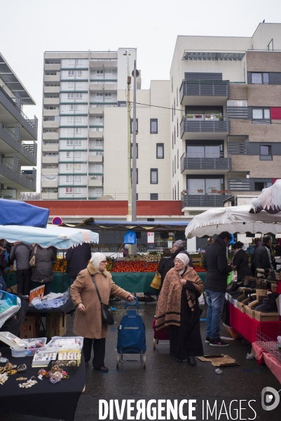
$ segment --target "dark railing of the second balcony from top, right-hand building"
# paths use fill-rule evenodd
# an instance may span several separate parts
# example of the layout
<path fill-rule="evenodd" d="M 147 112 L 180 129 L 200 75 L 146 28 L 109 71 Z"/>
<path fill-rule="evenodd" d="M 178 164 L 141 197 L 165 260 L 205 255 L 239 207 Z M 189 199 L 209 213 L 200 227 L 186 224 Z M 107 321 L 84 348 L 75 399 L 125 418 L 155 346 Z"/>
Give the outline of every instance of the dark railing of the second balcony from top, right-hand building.
<path fill-rule="evenodd" d="M 181 138 L 184 133 L 229 133 L 231 121 L 219 114 L 186 114 L 181 119 Z"/>

